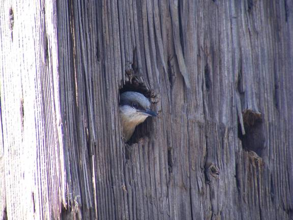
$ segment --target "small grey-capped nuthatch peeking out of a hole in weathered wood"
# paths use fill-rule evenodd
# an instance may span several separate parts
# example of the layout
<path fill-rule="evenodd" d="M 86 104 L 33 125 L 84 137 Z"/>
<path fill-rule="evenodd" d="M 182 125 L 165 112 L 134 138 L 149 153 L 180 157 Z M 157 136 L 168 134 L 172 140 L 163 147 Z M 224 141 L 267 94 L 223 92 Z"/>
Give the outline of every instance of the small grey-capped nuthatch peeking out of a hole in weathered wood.
<path fill-rule="evenodd" d="M 132 136 L 136 125 L 149 116 L 157 116 L 150 105 L 149 99 L 141 93 L 128 91 L 120 95 L 119 113 L 125 142 Z"/>

